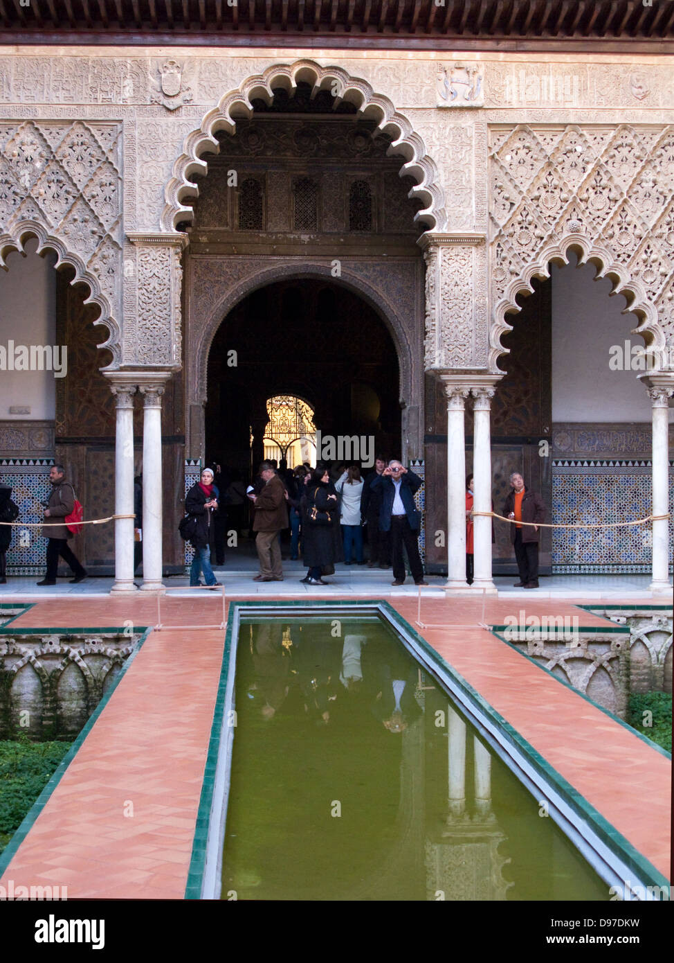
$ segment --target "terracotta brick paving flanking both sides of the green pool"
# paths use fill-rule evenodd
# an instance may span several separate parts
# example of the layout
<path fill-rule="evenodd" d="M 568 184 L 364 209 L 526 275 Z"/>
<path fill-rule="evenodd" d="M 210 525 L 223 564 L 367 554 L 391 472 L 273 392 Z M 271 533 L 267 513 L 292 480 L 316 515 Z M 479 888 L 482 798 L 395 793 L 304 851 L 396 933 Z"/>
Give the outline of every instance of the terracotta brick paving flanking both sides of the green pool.
<path fill-rule="evenodd" d="M 414 624 L 414 599 L 388 601 Z M 669 761 L 479 628 L 522 608 L 521 600 L 427 599 L 422 621 L 451 627 L 421 634 L 668 876 Z M 220 612 L 215 596 L 171 596 L 162 623 L 215 623 Z M 559 599 L 527 599 L 526 613 L 579 614 L 581 625 L 606 625 Z M 129 618 L 152 625 L 156 603 L 46 600 L 12 626 L 112 627 Z M 149 635 L 0 884 L 67 886 L 69 898 L 183 897 L 223 642 L 217 630 Z"/>

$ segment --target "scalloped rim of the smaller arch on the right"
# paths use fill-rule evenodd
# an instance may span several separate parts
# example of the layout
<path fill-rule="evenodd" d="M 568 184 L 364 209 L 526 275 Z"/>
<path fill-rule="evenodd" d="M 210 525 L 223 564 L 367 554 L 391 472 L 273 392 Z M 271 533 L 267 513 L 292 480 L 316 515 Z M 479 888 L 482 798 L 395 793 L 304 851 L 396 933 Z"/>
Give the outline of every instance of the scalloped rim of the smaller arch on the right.
<path fill-rule="evenodd" d="M 512 331 L 507 316 L 521 310 L 517 303 L 519 295 L 534 293 L 533 278 L 544 280 L 550 277 L 550 264 L 568 265 L 568 253 L 572 251 L 578 258 L 578 265 L 591 264 L 597 269 L 595 280 L 608 277 L 612 281 L 611 295 L 622 295 L 627 301 L 622 313 L 637 315 L 639 324 L 633 328 L 632 334 L 639 334 L 644 343 L 654 351 L 664 351 L 666 338 L 662 325 L 658 321 L 658 311 L 647 298 L 641 283 L 632 280 L 624 267 L 617 263 L 607 247 L 592 244 L 584 234 L 569 233 L 558 244 L 542 247 L 536 260 L 529 264 L 523 273 L 516 275 L 506 287 L 503 297 L 497 301 L 492 312 L 492 325 L 489 334 L 489 369 L 497 372 L 496 362 L 503 354 L 510 353 L 510 349 L 501 344 L 501 337 L 505 331 Z M 492 252 L 493 254 L 493 252 Z M 493 261 L 493 257 L 492 257 Z M 496 270 L 499 269 L 496 267 Z M 492 263 L 492 276 L 494 265 Z"/>

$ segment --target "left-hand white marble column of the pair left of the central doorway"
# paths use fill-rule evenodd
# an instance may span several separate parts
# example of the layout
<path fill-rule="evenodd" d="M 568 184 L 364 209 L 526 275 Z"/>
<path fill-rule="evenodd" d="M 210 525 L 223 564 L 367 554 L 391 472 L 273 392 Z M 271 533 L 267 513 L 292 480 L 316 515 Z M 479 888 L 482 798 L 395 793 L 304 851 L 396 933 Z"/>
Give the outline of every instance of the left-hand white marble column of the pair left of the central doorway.
<path fill-rule="evenodd" d="M 104 373 L 105 374 L 105 373 Z M 116 429 L 114 441 L 114 513 L 134 514 L 134 395 L 132 376 L 111 373 Z M 111 593 L 135 592 L 134 518 L 114 520 L 114 583 Z"/>

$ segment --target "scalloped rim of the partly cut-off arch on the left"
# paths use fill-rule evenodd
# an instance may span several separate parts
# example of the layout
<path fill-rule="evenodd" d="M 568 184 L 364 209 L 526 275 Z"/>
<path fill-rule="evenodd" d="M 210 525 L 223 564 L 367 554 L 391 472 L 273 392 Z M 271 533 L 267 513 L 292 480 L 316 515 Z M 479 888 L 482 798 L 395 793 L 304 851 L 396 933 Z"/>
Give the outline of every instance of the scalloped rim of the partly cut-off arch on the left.
<path fill-rule="evenodd" d="M 43 251 L 53 251 L 57 256 L 55 267 L 58 269 L 63 264 L 68 264 L 75 271 L 75 276 L 71 284 L 84 283 L 89 289 L 89 295 L 85 304 L 97 304 L 100 309 L 99 317 L 93 322 L 94 325 L 103 325 L 108 330 L 108 338 L 98 348 L 106 348 L 112 353 L 112 362 L 101 369 L 112 370 L 118 368 L 121 363 L 121 331 L 118 322 L 112 317 L 110 301 L 101 290 L 101 286 L 94 274 L 87 271 L 84 261 L 77 254 L 72 253 L 65 247 L 59 238 L 49 234 L 48 231 L 37 221 L 17 221 L 12 226 L 12 233 L 0 234 L 0 268 L 8 271 L 5 257 L 13 250 L 24 253 L 24 246 L 32 238 L 37 239 L 37 254 Z"/>

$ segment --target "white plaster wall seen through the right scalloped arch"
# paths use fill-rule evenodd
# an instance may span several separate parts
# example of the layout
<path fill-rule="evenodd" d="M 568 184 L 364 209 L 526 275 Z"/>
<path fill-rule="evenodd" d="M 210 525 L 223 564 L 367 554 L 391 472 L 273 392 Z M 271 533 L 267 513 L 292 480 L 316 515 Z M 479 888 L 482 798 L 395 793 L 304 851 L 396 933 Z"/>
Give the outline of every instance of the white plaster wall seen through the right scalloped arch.
<path fill-rule="evenodd" d="M 552 268 L 552 420 L 553 422 L 651 422 L 651 403 L 638 371 L 612 371 L 612 346 L 625 354 L 625 341 L 643 348 L 631 330 L 634 314 L 621 314 L 626 301 L 609 297 L 612 282 L 594 281 L 596 269 L 568 265 Z M 674 420 L 674 410 L 669 412 Z"/>

